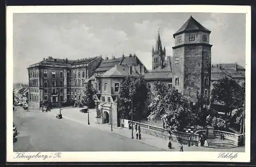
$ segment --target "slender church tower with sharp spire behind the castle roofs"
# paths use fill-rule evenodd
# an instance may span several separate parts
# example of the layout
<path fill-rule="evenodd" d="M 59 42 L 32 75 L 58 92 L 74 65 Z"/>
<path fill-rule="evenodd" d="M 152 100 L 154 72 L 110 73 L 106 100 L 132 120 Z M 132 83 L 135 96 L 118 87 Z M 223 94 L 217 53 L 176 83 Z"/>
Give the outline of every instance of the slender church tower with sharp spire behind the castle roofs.
<path fill-rule="evenodd" d="M 162 48 L 162 43 L 160 39 L 160 34 L 158 31 L 157 43 L 154 49 L 152 48 L 152 70 L 154 71 L 157 67 L 163 67 L 163 63 L 165 61 L 165 47 Z"/>

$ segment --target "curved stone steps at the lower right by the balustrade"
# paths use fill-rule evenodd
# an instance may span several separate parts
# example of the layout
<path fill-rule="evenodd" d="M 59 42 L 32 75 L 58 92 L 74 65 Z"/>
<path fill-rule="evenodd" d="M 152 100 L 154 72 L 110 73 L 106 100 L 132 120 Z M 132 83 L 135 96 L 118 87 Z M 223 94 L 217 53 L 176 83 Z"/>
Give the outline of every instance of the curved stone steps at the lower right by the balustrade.
<path fill-rule="evenodd" d="M 234 148 L 237 146 L 231 140 L 227 140 L 227 139 L 220 140 L 220 138 L 214 138 L 214 139 L 209 140 L 208 147 L 223 149 L 223 148 Z"/>

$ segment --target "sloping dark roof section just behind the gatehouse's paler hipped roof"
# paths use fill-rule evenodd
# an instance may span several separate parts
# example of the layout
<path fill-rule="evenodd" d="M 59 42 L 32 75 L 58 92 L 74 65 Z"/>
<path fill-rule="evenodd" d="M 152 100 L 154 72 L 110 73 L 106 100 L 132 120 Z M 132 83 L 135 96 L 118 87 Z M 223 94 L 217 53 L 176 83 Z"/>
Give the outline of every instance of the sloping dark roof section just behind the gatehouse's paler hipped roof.
<path fill-rule="evenodd" d="M 115 58 L 115 59 L 106 59 L 102 60 L 99 67 L 95 70 L 95 72 L 108 71 L 112 67 L 117 64 L 120 64 L 123 58 Z"/>

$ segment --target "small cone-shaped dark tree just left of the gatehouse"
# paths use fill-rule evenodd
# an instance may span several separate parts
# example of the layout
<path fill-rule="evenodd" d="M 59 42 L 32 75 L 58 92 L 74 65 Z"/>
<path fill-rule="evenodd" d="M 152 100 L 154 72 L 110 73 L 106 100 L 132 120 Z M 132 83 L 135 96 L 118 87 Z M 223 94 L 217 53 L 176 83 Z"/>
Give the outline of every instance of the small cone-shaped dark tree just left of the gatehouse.
<path fill-rule="evenodd" d="M 93 98 L 94 95 L 95 95 L 95 90 L 93 90 L 92 84 L 89 81 L 87 83 L 86 90 L 84 91 L 84 96 L 82 96 L 81 103 L 87 105 L 89 108 L 94 108 L 95 107 L 95 101 Z"/>

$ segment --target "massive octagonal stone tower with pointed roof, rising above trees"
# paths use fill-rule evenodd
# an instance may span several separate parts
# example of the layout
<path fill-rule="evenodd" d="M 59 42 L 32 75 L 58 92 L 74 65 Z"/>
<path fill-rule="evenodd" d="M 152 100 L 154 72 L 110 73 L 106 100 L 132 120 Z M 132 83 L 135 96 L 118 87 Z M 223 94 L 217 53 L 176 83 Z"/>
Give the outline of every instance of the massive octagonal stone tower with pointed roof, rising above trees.
<path fill-rule="evenodd" d="M 175 88 L 190 100 L 210 97 L 210 31 L 192 16 L 173 35 L 173 80 Z"/>

